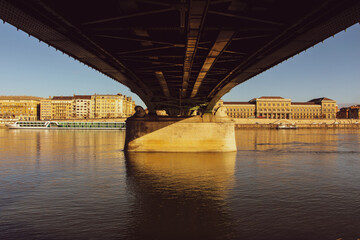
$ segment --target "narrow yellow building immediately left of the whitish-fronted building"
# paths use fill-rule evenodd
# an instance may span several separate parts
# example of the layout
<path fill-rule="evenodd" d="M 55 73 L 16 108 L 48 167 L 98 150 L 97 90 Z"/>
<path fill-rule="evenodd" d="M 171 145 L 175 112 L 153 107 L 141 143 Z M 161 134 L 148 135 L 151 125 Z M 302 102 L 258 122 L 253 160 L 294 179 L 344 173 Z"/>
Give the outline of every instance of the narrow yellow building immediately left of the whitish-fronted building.
<path fill-rule="evenodd" d="M 73 118 L 73 97 L 55 96 L 51 99 L 51 119 Z"/>

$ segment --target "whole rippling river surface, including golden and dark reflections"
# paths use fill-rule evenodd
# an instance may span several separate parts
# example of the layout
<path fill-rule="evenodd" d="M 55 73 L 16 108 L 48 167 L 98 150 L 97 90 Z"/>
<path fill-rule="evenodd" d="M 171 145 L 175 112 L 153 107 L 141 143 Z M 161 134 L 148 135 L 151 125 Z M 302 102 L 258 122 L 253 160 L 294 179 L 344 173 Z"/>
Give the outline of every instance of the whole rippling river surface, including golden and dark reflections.
<path fill-rule="evenodd" d="M 357 239 L 359 130 L 238 130 L 234 153 L 0 129 L 0 239 Z"/>

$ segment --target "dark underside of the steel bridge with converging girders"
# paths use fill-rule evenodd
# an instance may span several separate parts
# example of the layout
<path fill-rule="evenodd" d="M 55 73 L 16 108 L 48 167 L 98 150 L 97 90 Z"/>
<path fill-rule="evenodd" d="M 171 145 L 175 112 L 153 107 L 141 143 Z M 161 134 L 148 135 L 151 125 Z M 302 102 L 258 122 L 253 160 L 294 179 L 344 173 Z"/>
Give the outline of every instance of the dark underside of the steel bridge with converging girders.
<path fill-rule="evenodd" d="M 129 87 L 150 114 L 233 87 L 360 21 L 357 0 L 0 0 L 0 18 Z"/>

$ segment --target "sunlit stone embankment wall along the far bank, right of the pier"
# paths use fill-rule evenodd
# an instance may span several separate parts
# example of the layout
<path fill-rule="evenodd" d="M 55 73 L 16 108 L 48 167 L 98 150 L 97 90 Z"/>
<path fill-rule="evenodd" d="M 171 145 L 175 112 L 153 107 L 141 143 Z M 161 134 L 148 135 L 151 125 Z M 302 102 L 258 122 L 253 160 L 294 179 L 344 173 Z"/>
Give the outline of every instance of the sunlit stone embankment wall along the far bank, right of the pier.
<path fill-rule="evenodd" d="M 359 119 L 234 119 L 235 128 L 276 128 L 278 125 L 296 125 L 298 128 L 358 128 Z"/>

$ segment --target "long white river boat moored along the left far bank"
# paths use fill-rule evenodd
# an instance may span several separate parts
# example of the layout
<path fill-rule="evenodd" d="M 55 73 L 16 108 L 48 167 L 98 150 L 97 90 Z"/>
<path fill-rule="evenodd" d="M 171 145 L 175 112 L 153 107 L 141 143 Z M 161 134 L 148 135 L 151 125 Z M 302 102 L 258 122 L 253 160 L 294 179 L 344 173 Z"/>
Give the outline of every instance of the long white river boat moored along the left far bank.
<path fill-rule="evenodd" d="M 125 122 L 55 122 L 17 121 L 5 124 L 9 129 L 55 129 L 55 130 L 124 130 Z"/>

